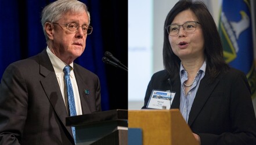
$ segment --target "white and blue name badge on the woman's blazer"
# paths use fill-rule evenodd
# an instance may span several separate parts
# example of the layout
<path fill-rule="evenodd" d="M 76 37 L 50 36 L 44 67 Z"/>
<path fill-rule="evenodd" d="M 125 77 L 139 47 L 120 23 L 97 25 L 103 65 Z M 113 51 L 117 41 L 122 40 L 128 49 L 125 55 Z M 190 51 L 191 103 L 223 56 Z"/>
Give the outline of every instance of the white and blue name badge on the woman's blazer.
<path fill-rule="evenodd" d="M 153 90 L 147 108 L 151 109 L 171 109 L 172 101 L 176 92 Z"/>

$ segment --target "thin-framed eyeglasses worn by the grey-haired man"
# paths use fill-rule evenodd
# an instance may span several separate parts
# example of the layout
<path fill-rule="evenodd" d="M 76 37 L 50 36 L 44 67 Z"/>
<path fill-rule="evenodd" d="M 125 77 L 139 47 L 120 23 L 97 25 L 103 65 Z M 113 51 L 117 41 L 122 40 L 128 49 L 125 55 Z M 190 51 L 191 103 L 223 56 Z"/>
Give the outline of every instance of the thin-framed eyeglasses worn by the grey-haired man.
<path fill-rule="evenodd" d="M 67 26 L 67 30 L 70 32 L 77 32 L 78 28 L 81 27 L 82 28 L 82 32 L 84 32 L 84 35 L 90 35 L 92 34 L 92 27 L 91 25 L 82 25 L 79 26 L 77 23 L 69 23 L 69 24 L 64 24 L 64 23 L 52 23 L 52 24 L 62 24 L 62 25 L 66 25 Z"/>

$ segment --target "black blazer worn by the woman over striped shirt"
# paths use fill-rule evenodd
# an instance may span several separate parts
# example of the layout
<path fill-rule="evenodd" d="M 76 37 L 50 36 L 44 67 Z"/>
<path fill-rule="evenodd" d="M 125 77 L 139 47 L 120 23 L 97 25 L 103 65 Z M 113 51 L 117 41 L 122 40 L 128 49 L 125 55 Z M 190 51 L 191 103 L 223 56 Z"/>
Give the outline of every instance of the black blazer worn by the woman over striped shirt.
<path fill-rule="evenodd" d="M 192 132 L 199 134 L 201 145 L 256 144 L 256 119 L 251 101 L 250 85 L 244 73 L 230 68 L 220 73 L 213 83 L 209 83 L 208 73 L 200 81 L 190 114 L 188 125 Z M 147 86 L 145 105 L 152 90 L 176 92 L 171 109 L 179 109 L 181 80 L 171 80 L 168 84 L 166 70 L 152 76 Z"/>

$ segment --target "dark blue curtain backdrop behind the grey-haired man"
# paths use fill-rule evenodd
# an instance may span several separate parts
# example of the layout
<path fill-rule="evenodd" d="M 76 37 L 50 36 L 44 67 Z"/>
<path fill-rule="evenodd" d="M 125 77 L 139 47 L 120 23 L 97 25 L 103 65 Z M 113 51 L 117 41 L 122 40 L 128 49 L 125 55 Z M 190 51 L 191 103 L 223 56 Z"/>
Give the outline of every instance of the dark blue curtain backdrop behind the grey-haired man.
<path fill-rule="evenodd" d="M 15 61 L 40 53 L 46 47 L 41 11 L 53 0 L 0 0 L 0 78 Z M 128 63 L 128 2 L 81 1 L 91 13 L 93 32 L 86 39 L 84 54 L 75 62 L 99 76 L 102 109 L 128 109 L 128 72 L 102 62 L 110 51 Z"/>

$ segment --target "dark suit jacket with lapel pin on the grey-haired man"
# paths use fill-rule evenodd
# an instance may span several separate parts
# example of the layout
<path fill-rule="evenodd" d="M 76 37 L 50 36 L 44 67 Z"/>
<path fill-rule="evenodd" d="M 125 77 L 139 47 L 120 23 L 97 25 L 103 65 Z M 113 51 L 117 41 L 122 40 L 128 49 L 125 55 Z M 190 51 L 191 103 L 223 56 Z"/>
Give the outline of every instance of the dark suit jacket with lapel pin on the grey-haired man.
<path fill-rule="evenodd" d="M 101 111 L 98 76 L 77 64 L 74 74 L 82 113 Z M 74 144 L 66 117 L 46 49 L 6 68 L 0 85 L 0 144 Z"/>

